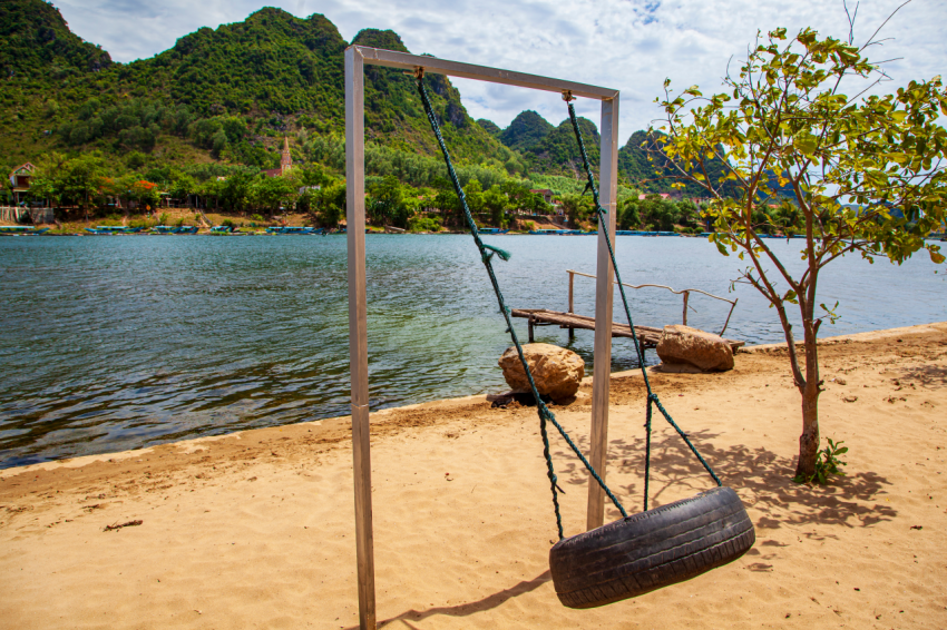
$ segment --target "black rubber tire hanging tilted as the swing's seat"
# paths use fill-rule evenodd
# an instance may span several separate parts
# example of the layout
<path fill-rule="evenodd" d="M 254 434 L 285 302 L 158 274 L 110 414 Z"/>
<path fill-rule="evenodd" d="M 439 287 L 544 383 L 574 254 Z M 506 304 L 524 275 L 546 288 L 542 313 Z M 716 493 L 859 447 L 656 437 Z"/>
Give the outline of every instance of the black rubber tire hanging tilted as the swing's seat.
<path fill-rule="evenodd" d="M 549 550 L 549 569 L 564 606 L 595 608 L 690 580 L 755 540 L 736 493 L 715 488 L 563 539 Z"/>

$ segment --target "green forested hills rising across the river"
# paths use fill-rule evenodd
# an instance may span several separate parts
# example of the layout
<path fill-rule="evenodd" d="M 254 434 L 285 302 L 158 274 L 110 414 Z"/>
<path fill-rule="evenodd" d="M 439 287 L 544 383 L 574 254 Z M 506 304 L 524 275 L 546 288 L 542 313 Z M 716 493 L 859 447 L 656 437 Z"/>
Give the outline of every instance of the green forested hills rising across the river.
<path fill-rule="evenodd" d="M 3 0 L 0 35 L 0 168 L 35 163 L 35 194 L 43 200 L 87 214 L 107 199 L 156 203 L 162 191 L 240 211 L 272 214 L 287 204 L 340 211 L 349 42 L 324 16 L 264 8 L 130 63 L 82 41 L 43 0 Z M 393 31 L 364 29 L 352 43 L 407 51 Z M 584 180 L 568 119 L 554 126 L 527 110 L 501 129 L 470 118 L 446 77 L 429 75 L 426 82 L 461 183 L 482 211 L 536 209 L 529 188 L 572 194 Z M 598 130 L 590 120 L 579 124 L 597 171 Z M 455 204 L 412 77 L 367 67 L 365 136 L 369 187 L 388 199 L 378 201 L 379 217 L 393 220 L 396 206 L 403 214 L 409 206 Z M 293 183 L 324 193 L 301 201 L 295 184 L 260 179 L 262 169 L 280 165 L 284 138 Z M 621 150 L 623 198 L 671 190 L 671 181 L 655 177 L 666 165 L 648 163 L 643 139 L 637 132 Z M 396 194 L 398 186 L 403 190 Z M 396 223 L 407 224 L 408 215 L 398 216 Z"/>

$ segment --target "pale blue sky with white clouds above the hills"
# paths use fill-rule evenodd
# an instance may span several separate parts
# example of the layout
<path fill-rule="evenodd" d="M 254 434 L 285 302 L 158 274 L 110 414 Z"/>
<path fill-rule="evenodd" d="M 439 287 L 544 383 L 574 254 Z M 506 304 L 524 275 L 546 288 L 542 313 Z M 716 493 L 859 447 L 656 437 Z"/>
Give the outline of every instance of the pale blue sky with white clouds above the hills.
<path fill-rule="evenodd" d="M 855 41 L 867 41 L 904 0 L 863 0 Z M 391 29 L 413 53 L 491 66 L 621 90 L 619 140 L 655 124 L 665 78 L 672 88 L 724 91 L 728 65 L 739 69 L 758 31 L 811 27 L 848 38 L 842 0 L 55 0 L 72 31 L 101 45 L 116 61 L 152 57 L 201 27 L 244 20 L 264 6 L 294 16 L 322 13 L 346 41 L 364 28 Z M 849 9 L 855 2 L 849 1 Z M 890 93 L 910 80 L 930 79 L 947 66 L 947 0 L 912 0 L 898 10 L 869 59 L 882 61 Z M 506 127 L 525 109 L 554 125 L 566 117 L 554 93 L 451 79 L 473 118 Z M 576 104 L 598 124 L 599 105 Z"/>

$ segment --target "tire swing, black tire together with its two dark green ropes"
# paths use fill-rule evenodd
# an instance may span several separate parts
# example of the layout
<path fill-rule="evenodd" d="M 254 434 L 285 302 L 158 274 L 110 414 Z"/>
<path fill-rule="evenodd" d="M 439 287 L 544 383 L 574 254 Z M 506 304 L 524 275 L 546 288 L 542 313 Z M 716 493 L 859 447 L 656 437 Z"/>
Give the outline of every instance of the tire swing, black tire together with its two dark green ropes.
<path fill-rule="evenodd" d="M 516 346 L 529 382 L 529 387 L 536 400 L 536 408 L 539 415 L 539 433 L 543 437 L 544 446 L 543 454 L 546 459 L 546 474 L 549 478 L 549 484 L 553 491 L 553 508 L 556 513 L 556 526 L 559 533 L 559 542 L 549 550 L 549 569 L 559 601 L 566 607 L 578 609 L 614 603 L 662 587 L 689 580 L 743 555 L 743 553 L 753 547 L 755 541 L 753 523 L 750 521 L 743 503 L 732 489 L 723 486 L 720 478 L 716 476 L 711 466 L 704 461 L 696 447 L 687 439 L 687 435 L 672 420 L 671 415 L 661 404 L 657 395 L 652 392 L 647 371 L 645 370 L 644 353 L 635 334 L 622 278 L 618 275 L 618 268 L 615 264 L 615 252 L 612 247 L 607 222 L 605 220 L 606 210 L 599 205 L 598 190 L 588 164 L 582 131 L 576 120 L 572 95 L 565 92 L 563 98 L 568 104 L 569 118 L 576 134 L 583 165 L 588 178 L 586 191 L 592 191 L 595 211 L 598 217 L 598 229 L 604 230 L 605 239 L 608 244 L 612 266 L 615 269 L 622 303 L 625 307 L 628 327 L 633 333 L 632 338 L 634 339 L 635 351 L 647 390 L 644 511 L 631 516 L 579 447 L 569 437 L 568 433 L 566 433 L 565 429 L 563 429 L 562 424 L 556 420 L 553 412 L 540 400 L 529 365 L 523 354 L 523 346 L 512 327 L 510 309 L 504 301 L 497 277 L 494 273 L 494 255 L 499 256 L 502 260 L 508 260 L 509 254 L 498 247 L 487 245 L 480 239 L 477 224 L 467 206 L 463 189 L 453 169 L 450 154 L 440 132 L 440 126 L 424 89 L 423 68 L 417 69 L 416 77 L 418 79 L 418 91 L 421 96 L 421 102 L 424 106 L 424 112 L 428 116 L 431 129 L 443 154 L 448 175 L 460 199 L 461 208 L 470 227 L 470 234 L 473 236 L 473 242 L 480 252 L 480 258 L 487 268 L 487 275 L 490 278 L 494 293 L 496 293 L 500 313 L 502 313 L 506 319 L 507 332 Z M 684 443 L 687 444 L 716 482 L 717 488 L 701 492 L 691 499 L 675 501 L 655 510 L 648 510 L 651 420 L 654 406 L 657 407 L 661 414 L 677 431 Z M 592 478 L 602 486 L 602 490 L 615 508 L 617 508 L 618 512 L 621 512 L 622 519 L 595 530 L 565 538 L 563 533 L 563 520 L 559 513 L 558 492 L 560 490 L 557 485 L 557 478 L 553 467 L 553 457 L 549 454 L 547 423 L 551 424 L 563 436 L 566 444 L 568 444 L 583 465 L 585 465 L 586 470 L 588 470 Z"/>

